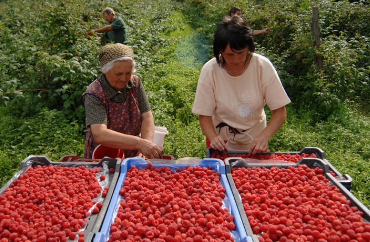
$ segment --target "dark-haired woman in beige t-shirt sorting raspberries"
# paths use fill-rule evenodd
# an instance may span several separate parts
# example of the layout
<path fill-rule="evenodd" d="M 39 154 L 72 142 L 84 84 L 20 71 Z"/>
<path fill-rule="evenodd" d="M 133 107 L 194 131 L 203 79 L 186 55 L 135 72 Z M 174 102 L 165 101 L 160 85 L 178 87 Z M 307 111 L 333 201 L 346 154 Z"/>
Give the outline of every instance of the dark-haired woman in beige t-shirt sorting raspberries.
<path fill-rule="evenodd" d="M 286 120 L 290 99 L 273 64 L 254 50 L 251 28 L 241 17 L 218 24 L 215 57 L 202 68 L 192 110 L 211 148 L 264 152 Z M 268 123 L 265 104 L 272 113 Z"/>

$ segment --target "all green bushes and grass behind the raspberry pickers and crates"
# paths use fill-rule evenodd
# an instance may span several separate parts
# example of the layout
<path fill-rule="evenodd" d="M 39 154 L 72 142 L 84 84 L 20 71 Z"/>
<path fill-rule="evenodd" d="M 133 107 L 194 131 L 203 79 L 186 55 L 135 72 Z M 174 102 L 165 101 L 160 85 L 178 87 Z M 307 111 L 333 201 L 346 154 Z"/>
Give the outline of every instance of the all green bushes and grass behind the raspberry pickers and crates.
<path fill-rule="evenodd" d="M 88 40 L 87 31 L 106 24 L 106 6 L 125 20 L 155 123 L 169 130 L 164 153 L 205 157 L 205 137 L 191 113 L 197 79 L 212 58 L 216 24 L 238 6 L 252 28 L 272 30 L 255 37 L 256 52 L 272 60 L 293 101 L 269 150 L 322 148 L 370 206 L 370 11 L 362 1 L 1 1 L 0 184 L 30 154 L 51 160 L 82 155 L 80 97 L 98 75 L 104 44 L 101 34 Z M 313 6 L 319 7 L 319 48 L 311 37 Z M 322 56 L 322 69 L 315 55 Z"/>

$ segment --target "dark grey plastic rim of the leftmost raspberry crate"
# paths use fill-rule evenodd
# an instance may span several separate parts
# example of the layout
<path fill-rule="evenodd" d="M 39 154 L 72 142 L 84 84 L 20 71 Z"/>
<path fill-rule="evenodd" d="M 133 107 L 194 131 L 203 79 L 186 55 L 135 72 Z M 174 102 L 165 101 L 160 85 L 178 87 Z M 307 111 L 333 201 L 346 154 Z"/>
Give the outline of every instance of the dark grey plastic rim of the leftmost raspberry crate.
<path fill-rule="evenodd" d="M 109 187 L 109 190 L 107 192 L 106 197 L 102 201 L 102 208 L 100 209 L 100 212 L 97 214 L 92 214 L 87 222 L 87 226 L 85 230 L 83 231 L 85 233 L 85 241 L 92 241 L 94 234 L 100 231 L 101 225 L 103 223 L 105 214 L 108 210 L 108 206 L 110 203 L 110 200 L 113 195 L 114 188 L 116 186 L 119 174 L 120 174 L 120 167 L 121 167 L 121 159 L 119 158 L 108 158 L 104 157 L 99 162 L 52 162 L 45 156 L 33 156 L 30 155 L 20 163 L 20 171 L 19 174 L 22 174 L 26 171 L 27 167 L 29 166 L 36 166 L 36 165 L 54 165 L 54 166 L 86 166 L 86 167 L 103 167 L 103 164 L 107 166 L 107 169 L 110 168 L 114 169 L 114 173 L 107 172 L 107 186 Z M 14 179 L 13 179 L 14 180 Z M 3 193 L 3 191 L 10 185 L 10 183 L 5 184 L 0 189 L 0 194 Z M 7 186 L 7 187 L 6 187 Z"/>

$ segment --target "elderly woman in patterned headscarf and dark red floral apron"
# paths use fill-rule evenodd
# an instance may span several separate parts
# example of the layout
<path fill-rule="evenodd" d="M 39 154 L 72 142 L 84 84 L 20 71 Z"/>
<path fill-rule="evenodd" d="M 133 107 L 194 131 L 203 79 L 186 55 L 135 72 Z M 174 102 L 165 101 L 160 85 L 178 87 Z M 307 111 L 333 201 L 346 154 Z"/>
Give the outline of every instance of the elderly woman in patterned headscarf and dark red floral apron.
<path fill-rule="evenodd" d="M 135 71 L 131 46 L 104 46 L 99 53 L 102 75 L 82 95 L 86 113 L 83 158 L 91 159 L 98 144 L 124 150 L 125 157 L 160 158 L 153 143 L 154 119 Z"/>

